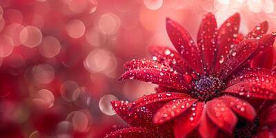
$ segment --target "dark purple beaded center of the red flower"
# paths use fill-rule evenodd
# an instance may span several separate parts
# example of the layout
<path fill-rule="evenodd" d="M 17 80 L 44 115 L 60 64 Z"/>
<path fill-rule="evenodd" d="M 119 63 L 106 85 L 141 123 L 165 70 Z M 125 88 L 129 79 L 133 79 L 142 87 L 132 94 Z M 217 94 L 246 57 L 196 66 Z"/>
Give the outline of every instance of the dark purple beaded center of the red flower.
<path fill-rule="evenodd" d="M 223 88 L 224 83 L 217 77 L 200 77 L 190 84 L 193 89 L 191 94 L 199 101 L 210 101 L 215 97 L 221 95 L 220 90 Z"/>

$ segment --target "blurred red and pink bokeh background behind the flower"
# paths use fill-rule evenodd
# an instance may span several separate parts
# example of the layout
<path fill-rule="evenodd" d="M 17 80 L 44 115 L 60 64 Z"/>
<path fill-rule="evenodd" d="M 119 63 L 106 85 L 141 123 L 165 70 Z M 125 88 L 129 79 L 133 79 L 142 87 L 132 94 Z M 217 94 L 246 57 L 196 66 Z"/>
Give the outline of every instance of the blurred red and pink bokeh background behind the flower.
<path fill-rule="evenodd" d="M 242 16 L 240 32 L 268 21 L 275 0 L 0 0 L 0 137 L 104 137 L 126 126 L 110 106 L 154 92 L 119 82 L 123 64 L 172 46 L 170 17 L 197 35 L 201 15 L 218 25 Z"/>

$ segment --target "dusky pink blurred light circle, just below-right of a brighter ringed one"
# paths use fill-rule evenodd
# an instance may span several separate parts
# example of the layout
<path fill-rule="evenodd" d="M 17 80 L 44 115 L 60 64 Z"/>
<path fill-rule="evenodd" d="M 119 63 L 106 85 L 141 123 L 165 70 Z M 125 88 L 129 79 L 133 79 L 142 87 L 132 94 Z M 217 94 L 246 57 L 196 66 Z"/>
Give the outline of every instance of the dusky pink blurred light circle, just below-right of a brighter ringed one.
<path fill-rule="evenodd" d="M 43 37 L 39 44 L 39 52 L 44 57 L 52 58 L 59 54 L 61 44 L 55 37 Z"/>

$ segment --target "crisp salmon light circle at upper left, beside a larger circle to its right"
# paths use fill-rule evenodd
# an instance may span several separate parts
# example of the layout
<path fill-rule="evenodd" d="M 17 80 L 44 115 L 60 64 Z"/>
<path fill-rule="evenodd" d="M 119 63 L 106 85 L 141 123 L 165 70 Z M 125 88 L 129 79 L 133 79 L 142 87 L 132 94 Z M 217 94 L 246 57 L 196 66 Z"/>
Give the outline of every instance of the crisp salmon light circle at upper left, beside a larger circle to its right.
<path fill-rule="evenodd" d="M 72 19 L 66 23 L 66 31 L 70 37 L 77 39 L 83 36 L 84 32 L 86 31 L 86 26 L 84 26 L 81 20 Z"/>

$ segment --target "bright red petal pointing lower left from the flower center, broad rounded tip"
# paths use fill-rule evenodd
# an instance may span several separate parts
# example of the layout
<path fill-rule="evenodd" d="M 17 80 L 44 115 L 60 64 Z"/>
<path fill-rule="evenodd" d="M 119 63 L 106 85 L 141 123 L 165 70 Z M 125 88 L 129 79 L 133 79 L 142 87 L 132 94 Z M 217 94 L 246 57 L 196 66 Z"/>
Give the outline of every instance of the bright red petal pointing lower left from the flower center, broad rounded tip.
<path fill-rule="evenodd" d="M 188 110 L 195 101 L 197 101 L 197 99 L 192 98 L 172 100 L 155 113 L 153 116 L 153 122 L 155 124 L 163 124 L 164 121 L 169 121 Z"/>

